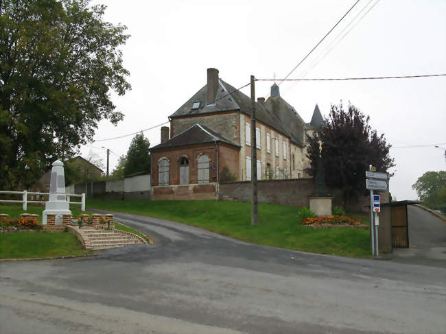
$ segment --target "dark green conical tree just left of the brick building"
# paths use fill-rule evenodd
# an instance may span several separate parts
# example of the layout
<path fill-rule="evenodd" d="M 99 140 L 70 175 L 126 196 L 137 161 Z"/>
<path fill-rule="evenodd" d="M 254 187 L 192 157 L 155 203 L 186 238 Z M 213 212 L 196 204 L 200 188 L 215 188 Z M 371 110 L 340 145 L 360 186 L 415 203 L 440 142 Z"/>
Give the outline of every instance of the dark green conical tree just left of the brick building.
<path fill-rule="evenodd" d="M 127 151 L 127 162 L 124 167 L 125 176 L 141 172 L 150 173 L 149 147 L 150 143 L 142 133 L 133 137 Z"/>

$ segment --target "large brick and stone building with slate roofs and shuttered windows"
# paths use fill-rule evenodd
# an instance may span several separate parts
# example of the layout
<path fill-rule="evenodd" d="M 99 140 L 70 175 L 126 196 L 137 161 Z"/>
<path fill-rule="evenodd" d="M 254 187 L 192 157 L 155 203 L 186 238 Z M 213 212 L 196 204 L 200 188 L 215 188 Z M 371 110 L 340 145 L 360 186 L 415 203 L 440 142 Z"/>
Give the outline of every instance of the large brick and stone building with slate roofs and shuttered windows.
<path fill-rule="evenodd" d="M 208 69 L 207 84 L 170 115 L 170 131 L 163 127 L 150 149 L 153 198 L 215 198 L 223 169 L 250 180 L 251 115 L 250 97 Z M 306 134 L 323 122 L 318 106 L 305 123 L 273 84 L 266 101 L 257 99 L 256 120 L 258 178 L 307 176 Z"/>

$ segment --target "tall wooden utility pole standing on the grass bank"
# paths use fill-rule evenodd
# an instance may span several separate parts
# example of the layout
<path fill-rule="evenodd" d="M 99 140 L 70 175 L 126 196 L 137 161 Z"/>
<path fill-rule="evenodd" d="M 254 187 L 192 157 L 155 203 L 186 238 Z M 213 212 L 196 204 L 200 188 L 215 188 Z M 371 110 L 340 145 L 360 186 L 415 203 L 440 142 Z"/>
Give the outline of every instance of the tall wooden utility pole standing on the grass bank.
<path fill-rule="evenodd" d="M 253 200 L 251 202 L 251 225 L 257 225 L 257 140 L 255 130 L 255 78 L 251 75 L 251 186 L 253 189 Z"/>

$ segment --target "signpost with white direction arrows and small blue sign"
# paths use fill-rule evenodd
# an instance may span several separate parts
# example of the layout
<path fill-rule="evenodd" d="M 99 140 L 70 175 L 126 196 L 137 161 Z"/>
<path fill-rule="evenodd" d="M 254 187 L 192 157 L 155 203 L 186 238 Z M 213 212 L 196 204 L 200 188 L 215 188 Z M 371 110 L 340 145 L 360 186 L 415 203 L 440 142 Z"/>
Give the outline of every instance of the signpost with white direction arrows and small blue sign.
<path fill-rule="evenodd" d="M 372 235 L 372 255 L 375 255 L 375 233 L 376 233 L 376 256 L 379 256 L 378 250 L 378 213 L 381 211 L 381 203 L 379 195 L 373 195 L 373 191 L 383 191 L 388 188 L 387 173 L 380 173 L 372 165 L 366 171 L 366 189 L 370 190 L 370 226 Z M 375 224 L 373 224 L 373 212 L 375 212 Z M 376 231 L 375 231 L 376 226 Z"/>

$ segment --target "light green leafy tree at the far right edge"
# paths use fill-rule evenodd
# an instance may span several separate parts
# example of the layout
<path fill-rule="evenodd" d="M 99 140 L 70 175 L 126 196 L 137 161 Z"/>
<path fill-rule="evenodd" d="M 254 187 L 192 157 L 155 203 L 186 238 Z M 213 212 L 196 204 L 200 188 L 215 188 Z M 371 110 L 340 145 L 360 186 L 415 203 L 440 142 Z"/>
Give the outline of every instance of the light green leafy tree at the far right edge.
<path fill-rule="evenodd" d="M 446 171 L 426 171 L 412 184 L 412 189 L 427 206 L 446 209 Z"/>

